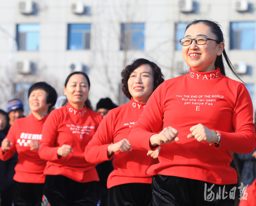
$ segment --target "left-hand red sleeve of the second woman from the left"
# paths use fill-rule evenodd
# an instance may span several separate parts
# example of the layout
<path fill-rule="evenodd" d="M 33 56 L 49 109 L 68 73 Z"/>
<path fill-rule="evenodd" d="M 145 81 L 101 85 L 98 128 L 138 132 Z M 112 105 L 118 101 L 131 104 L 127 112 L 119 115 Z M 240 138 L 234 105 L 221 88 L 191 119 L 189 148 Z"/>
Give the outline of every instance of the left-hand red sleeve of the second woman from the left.
<path fill-rule="evenodd" d="M 58 116 L 61 115 L 59 115 L 57 111 L 53 110 L 44 122 L 42 140 L 40 141 L 38 151 L 41 159 L 50 161 L 58 159 L 57 150 L 59 147 L 55 147 L 57 129 L 60 121 Z"/>

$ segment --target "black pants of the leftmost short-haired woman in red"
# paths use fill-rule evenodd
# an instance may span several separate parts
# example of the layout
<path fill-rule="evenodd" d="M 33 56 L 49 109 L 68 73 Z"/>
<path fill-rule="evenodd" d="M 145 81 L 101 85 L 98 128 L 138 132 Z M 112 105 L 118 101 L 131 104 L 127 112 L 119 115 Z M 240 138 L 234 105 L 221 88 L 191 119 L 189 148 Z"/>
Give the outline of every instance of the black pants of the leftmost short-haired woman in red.
<path fill-rule="evenodd" d="M 41 206 L 44 184 L 14 183 L 14 206 Z"/>

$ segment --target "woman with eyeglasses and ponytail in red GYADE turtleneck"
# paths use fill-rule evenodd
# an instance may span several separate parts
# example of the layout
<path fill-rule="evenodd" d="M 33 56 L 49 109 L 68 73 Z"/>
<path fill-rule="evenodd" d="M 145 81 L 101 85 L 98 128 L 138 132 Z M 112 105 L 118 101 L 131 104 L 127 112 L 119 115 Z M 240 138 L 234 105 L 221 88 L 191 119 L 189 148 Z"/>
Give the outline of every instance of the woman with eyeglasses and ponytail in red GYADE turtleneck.
<path fill-rule="evenodd" d="M 153 92 L 128 140 L 148 150 L 161 145 L 159 163 L 147 170 L 153 205 L 234 205 L 230 152 L 256 147 L 252 100 L 244 84 L 226 76 L 224 59 L 237 74 L 217 22 L 189 23 L 180 42 L 189 73 Z"/>

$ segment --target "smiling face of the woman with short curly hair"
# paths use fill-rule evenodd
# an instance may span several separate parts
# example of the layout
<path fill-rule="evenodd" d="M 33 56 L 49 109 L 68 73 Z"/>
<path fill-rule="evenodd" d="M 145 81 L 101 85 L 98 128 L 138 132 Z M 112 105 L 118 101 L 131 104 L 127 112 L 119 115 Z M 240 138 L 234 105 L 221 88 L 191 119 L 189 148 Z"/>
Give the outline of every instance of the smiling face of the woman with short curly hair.
<path fill-rule="evenodd" d="M 134 69 L 128 79 L 128 89 L 134 101 L 147 102 L 154 89 L 154 75 L 150 65 L 143 64 Z"/>

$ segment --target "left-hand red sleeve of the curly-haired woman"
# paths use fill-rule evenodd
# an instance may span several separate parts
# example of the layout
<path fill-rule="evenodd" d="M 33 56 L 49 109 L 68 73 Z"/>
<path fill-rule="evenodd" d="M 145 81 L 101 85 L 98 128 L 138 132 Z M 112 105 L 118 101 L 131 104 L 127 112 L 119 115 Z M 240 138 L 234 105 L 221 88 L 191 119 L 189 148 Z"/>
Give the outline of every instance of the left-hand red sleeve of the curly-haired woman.
<path fill-rule="evenodd" d="M 99 164 L 112 159 L 114 153 L 108 157 L 107 152 L 108 146 L 113 141 L 114 121 L 114 114 L 110 110 L 85 148 L 85 159 L 87 162 Z"/>

